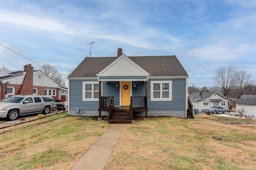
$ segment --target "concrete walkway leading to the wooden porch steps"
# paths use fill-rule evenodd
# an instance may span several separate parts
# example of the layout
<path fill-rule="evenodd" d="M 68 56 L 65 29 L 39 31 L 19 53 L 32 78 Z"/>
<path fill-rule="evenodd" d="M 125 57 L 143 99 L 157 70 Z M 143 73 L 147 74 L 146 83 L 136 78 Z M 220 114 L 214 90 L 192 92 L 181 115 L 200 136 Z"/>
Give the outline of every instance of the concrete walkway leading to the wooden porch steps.
<path fill-rule="evenodd" d="M 127 125 L 129 124 L 111 124 L 108 131 L 100 136 L 71 170 L 103 170 Z"/>

